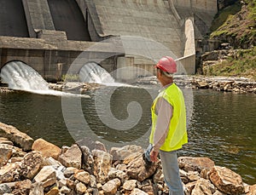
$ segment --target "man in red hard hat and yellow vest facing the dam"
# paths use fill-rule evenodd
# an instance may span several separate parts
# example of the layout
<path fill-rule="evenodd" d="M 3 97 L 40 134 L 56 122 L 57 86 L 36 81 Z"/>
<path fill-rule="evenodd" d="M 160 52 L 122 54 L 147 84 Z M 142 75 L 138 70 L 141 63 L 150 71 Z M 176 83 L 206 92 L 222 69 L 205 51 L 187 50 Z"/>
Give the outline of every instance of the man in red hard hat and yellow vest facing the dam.
<path fill-rule="evenodd" d="M 156 77 L 163 86 L 151 107 L 152 129 L 149 146 L 143 154 L 146 166 L 158 160 L 160 154 L 163 174 L 170 195 L 183 195 L 183 184 L 179 175 L 177 150 L 188 142 L 186 110 L 183 92 L 173 83 L 177 64 L 171 57 L 159 60 Z"/>

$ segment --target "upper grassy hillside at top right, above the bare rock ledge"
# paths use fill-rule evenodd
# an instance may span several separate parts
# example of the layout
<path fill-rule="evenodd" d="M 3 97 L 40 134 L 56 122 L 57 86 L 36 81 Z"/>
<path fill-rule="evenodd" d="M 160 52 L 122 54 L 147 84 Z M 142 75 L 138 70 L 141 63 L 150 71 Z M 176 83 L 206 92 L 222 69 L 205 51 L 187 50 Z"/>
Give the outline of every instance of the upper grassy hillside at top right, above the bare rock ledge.
<path fill-rule="evenodd" d="M 219 11 L 212 21 L 211 38 L 231 42 L 235 48 L 246 49 L 255 43 L 256 0 L 247 0 L 243 6 L 235 3 Z"/>

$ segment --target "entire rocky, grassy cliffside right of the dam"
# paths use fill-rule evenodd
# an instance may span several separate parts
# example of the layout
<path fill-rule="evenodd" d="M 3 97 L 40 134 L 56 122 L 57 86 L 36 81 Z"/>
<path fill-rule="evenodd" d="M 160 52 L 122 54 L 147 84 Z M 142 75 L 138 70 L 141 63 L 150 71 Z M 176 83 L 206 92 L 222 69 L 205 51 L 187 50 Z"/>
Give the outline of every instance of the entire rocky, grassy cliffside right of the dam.
<path fill-rule="evenodd" d="M 236 1 L 220 9 L 212 21 L 210 39 L 220 44 L 218 51 L 202 54 L 201 68 L 204 75 L 256 79 L 255 1 Z"/>

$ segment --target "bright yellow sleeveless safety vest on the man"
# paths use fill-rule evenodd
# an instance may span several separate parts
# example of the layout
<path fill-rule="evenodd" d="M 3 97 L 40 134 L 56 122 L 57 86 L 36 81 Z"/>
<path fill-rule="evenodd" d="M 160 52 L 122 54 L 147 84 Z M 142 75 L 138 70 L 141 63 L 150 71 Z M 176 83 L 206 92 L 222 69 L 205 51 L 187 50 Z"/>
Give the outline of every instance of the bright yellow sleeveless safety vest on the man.
<path fill-rule="evenodd" d="M 160 146 L 160 150 L 170 152 L 182 148 L 183 144 L 188 142 L 187 128 L 186 128 L 186 109 L 183 98 L 183 92 L 172 83 L 169 87 L 160 92 L 154 99 L 151 106 L 152 114 L 152 129 L 149 137 L 149 143 L 154 145 L 154 131 L 157 122 L 157 114 L 155 113 L 155 106 L 157 100 L 162 97 L 172 105 L 172 118 L 169 124 L 169 131 L 166 136 L 165 143 Z"/>

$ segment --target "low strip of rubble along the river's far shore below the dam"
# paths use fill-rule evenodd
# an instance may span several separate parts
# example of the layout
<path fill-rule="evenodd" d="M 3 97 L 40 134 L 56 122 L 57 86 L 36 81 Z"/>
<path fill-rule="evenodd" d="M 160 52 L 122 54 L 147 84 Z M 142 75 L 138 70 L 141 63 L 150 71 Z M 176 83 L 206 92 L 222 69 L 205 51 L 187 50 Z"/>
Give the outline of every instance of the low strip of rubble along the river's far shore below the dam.
<path fill-rule="evenodd" d="M 256 81 L 246 77 L 205 77 L 205 76 L 175 76 L 175 83 L 178 86 L 189 87 L 192 89 L 213 89 L 217 91 L 235 92 L 235 93 L 254 93 L 256 94 Z M 160 85 L 155 76 L 140 77 L 133 80 L 131 85 Z M 88 90 L 96 90 L 101 87 L 98 83 L 49 83 L 49 89 L 65 90 L 67 92 L 78 91 L 85 93 Z M 1 87 L 0 93 L 8 93 L 12 90 L 6 85 Z"/>

